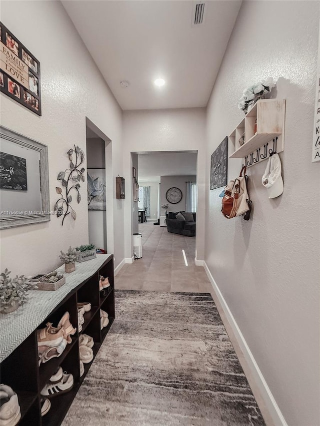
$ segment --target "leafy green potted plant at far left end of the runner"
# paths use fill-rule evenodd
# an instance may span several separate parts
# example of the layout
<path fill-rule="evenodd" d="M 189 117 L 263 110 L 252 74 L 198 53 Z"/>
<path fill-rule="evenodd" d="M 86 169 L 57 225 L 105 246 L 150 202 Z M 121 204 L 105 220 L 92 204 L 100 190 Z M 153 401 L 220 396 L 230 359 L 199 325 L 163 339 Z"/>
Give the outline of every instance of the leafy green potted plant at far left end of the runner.
<path fill-rule="evenodd" d="M 10 273 L 5 268 L 0 275 L 0 311 L 5 314 L 23 305 L 27 301 L 28 291 L 37 288 L 35 283 L 29 282 L 24 275 L 12 279 Z"/>

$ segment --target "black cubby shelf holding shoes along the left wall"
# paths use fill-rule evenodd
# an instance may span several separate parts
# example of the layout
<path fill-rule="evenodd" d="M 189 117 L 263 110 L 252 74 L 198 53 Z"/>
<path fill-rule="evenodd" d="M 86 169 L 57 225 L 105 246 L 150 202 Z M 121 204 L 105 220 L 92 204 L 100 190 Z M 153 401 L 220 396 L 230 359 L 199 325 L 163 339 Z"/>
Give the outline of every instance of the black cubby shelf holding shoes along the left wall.
<path fill-rule="evenodd" d="M 88 270 L 92 270 L 92 272 L 94 271 L 94 265 L 97 263 L 100 265 L 91 276 L 88 277 L 88 274 L 86 277 L 83 276 L 83 267 L 82 270 L 79 268 L 78 281 L 76 281 L 76 274 L 72 273 L 73 288 L 70 289 L 68 294 L 66 294 L 63 286 L 60 288 L 61 290 L 58 289 L 52 292 L 57 294 L 59 291 L 64 291 L 66 296 L 60 299 L 57 298 L 58 302 L 54 307 L 51 305 L 51 309 L 53 309 L 48 313 L 47 318 L 42 317 L 43 321 L 39 321 L 40 324 L 38 323 L 39 325 L 33 332 L 1 362 L 1 383 L 10 386 L 18 396 L 21 411 L 19 425 L 57 426 L 62 423 L 103 339 L 110 329 L 115 316 L 113 255 L 105 255 L 104 262 L 102 257 L 100 259 L 101 261 L 93 259 L 85 262 L 89 267 Z M 99 297 L 99 275 L 108 277 L 110 283 L 108 293 L 101 298 Z M 45 327 L 47 322 L 52 323 L 53 326 L 57 326 L 64 312 L 69 312 L 71 324 L 73 327 L 78 328 L 77 302 L 89 302 L 91 304 L 91 310 L 84 314 L 81 333 L 84 332 L 92 336 L 94 341 L 92 348 L 93 360 L 89 364 L 84 364 L 84 374 L 81 377 L 78 341 L 81 333 L 78 330 L 71 336 L 72 342 L 67 344 L 60 357 L 52 358 L 40 365 L 38 365 L 36 340 L 36 330 Z M 103 309 L 109 315 L 109 324 L 102 330 L 100 329 L 100 309 Z M 28 320 L 28 311 L 24 311 L 24 315 L 26 316 L 25 320 Z M 51 408 L 44 417 L 41 417 L 40 400 L 42 397 L 40 391 L 59 366 L 62 367 L 63 371 L 72 374 L 73 388 L 65 394 L 55 395 L 50 398 Z"/>

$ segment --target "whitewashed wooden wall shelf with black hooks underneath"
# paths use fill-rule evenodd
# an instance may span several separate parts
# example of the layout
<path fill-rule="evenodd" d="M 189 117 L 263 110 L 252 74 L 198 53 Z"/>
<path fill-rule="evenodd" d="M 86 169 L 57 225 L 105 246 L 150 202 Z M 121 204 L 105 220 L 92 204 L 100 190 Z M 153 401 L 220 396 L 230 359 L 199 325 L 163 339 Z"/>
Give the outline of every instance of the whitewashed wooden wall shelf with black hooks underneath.
<path fill-rule="evenodd" d="M 230 134 L 229 158 L 245 158 L 249 167 L 267 158 L 263 155 L 267 146 L 273 152 L 283 151 L 284 118 L 285 99 L 258 100 Z"/>

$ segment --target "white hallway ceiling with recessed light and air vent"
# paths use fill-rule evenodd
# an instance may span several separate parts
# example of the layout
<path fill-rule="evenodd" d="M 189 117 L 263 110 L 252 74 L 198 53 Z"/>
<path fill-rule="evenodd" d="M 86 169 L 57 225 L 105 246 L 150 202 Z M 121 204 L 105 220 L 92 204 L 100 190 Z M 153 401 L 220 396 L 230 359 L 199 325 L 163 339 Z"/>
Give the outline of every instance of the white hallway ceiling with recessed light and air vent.
<path fill-rule="evenodd" d="M 105 81 L 126 109 L 206 106 L 241 1 L 62 1 Z M 153 81 L 162 77 L 159 88 Z M 120 86 L 127 80 L 129 86 Z"/>

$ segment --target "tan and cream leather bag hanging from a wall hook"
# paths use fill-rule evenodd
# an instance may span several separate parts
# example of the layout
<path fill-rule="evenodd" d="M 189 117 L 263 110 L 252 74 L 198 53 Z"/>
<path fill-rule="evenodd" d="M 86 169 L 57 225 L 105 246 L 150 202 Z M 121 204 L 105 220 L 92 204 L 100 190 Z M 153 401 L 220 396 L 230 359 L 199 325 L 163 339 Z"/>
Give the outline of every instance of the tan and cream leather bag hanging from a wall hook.
<path fill-rule="evenodd" d="M 224 188 L 221 212 L 227 219 L 241 216 L 242 214 L 244 214 L 244 220 L 249 220 L 250 218 L 252 201 L 249 199 L 248 177 L 245 172 L 246 167 L 243 166 L 240 175 L 230 180 Z"/>

